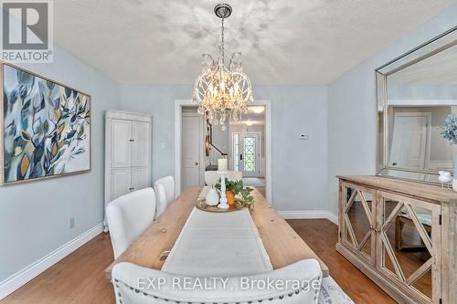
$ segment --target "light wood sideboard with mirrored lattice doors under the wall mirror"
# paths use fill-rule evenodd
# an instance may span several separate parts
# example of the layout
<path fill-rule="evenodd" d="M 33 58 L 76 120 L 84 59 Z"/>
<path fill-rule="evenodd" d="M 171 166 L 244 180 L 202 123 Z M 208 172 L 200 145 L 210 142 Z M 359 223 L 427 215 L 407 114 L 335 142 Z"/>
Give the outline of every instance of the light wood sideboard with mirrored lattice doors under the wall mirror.
<path fill-rule="evenodd" d="M 457 193 L 339 176 L 336 250 L 399 303 L 456 303 Z"/>

